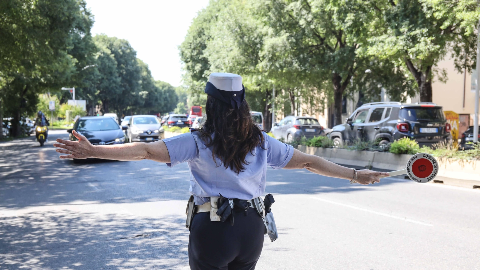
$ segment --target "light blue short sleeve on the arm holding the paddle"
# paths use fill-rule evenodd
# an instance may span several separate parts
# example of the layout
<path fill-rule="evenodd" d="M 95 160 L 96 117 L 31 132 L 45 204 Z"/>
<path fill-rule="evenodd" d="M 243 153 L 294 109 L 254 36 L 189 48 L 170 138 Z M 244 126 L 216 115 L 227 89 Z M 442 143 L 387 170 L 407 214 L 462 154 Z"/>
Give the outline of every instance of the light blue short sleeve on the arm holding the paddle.
<path fill-rule="evenodd" d="M 282 143 L 279 140 L 270 137 L 265 132 L 265 148 L 267 151 L 267 164 L 273 169 L 282 169 L 293 156 L 293 146 Z"/>

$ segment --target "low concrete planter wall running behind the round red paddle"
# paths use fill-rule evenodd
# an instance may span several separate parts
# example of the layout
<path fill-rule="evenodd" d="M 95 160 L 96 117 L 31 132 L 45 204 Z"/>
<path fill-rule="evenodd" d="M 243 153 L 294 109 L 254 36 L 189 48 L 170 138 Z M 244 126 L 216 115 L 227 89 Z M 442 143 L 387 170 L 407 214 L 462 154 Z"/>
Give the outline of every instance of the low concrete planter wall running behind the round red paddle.
<path fill-rule="evenodd" d="M 299 145 L 300 151 L 335 162 L 337 164 L 375 168 L 388 171 L 405 168 L 411 155 L 397 155 L 385 152 L 354 151 L 338 148 L 307 147 Z M 439 172 L 435 180 L 444 184 L 480 188 L 480 160 L 455 160 L 438 158 Z"/>

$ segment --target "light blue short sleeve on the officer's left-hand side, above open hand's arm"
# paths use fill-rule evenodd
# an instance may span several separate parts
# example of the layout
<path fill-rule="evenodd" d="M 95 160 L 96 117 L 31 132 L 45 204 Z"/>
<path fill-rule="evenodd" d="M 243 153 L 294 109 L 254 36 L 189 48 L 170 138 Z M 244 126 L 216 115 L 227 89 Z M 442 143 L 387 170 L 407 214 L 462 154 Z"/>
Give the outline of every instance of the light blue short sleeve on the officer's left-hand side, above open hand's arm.
<path fill-rule="evenodd" d="M 170 155 L 170 163 L 167 163 L 168 167 L 192 161 L 198 155 L 197 143 L 190 132 L 163 139 L 163 142 L 167 146 L 168 154 Z"/>

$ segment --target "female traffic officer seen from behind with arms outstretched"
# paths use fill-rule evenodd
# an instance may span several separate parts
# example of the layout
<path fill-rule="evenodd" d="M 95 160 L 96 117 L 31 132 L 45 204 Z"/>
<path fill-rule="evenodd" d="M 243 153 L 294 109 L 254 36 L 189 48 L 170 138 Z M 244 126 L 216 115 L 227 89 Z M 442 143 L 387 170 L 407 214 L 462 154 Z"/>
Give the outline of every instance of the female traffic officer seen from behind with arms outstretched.
<path fill-rule="evenodd" d="M 264 221 L 253 199 L 264 194 L 267 165 L 273 169 L 307 169 L 356 181 L 380 182 L 384 172 L 349 169 L 284 144 L 253 123 L 241 76 L 213 73 L 205 87 L 206 122 L 199 130 L 153 143 L 93 146 L 57 139 L 61 159 L 156 160 L 175 166 L 188 162 L 190 193 L 196 205 L 189 229 L 192 270 L 252 270 L 264 242 Z M 227 222 L 225 222 L 227 221 Z M 188 221 L 187 221 L 188 222 Z"/>

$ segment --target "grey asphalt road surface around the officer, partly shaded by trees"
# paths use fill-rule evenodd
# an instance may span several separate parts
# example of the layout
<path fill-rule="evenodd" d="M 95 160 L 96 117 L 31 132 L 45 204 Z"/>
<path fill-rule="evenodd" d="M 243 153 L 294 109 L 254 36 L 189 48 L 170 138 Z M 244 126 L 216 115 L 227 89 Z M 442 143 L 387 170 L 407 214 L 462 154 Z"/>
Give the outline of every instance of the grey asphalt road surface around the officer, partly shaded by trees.
<path fill-rule="evenodd" d="M 0 269 L 189 269 L 186 164 L 74 164 L 49 136 L 0 143 Z M 257 269 L 480 269 L 478 189 L 267 177 L 279 238 Z"/>

